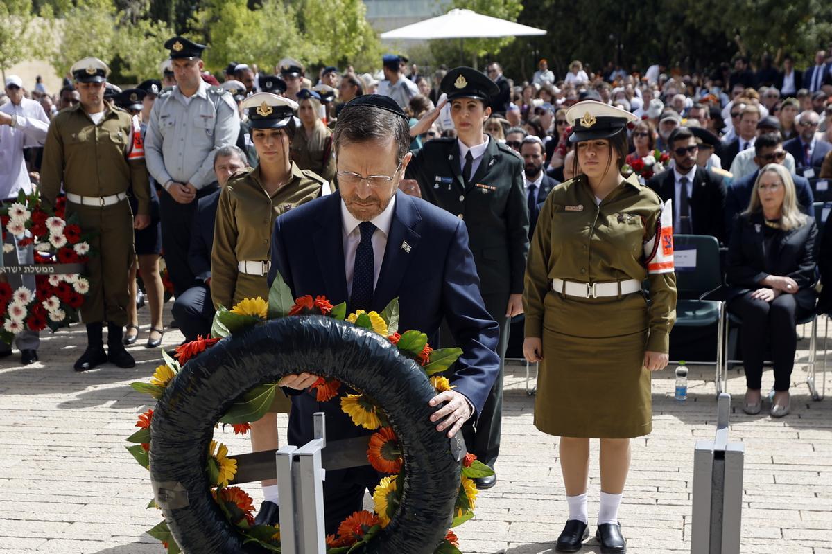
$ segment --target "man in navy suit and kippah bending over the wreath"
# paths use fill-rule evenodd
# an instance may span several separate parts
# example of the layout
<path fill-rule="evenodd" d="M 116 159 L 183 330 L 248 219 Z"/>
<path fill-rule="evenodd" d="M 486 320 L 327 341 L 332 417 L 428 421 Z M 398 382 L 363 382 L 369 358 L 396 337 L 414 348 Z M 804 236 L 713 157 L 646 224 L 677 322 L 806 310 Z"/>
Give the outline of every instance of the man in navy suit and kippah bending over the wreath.
<path fill-rule="evenodd" d="M 348 311 L 382 311 L 399 298 L 399 329 L 438 335 L 448 322 L 463 354 L 453 390 L 431 400 L 437 431 L 453 436 L 476 419 L 499 371 L 499 328 L 479 292 L 468 232 L 459 218 L 397 192 L 410 162 L 408 118 L 392 99 L 359 96 L 341 111 L 334 134 L 339 191 L 277 219 L 269 285 L 278 272 L 295 297 L 325 295 Z M 368 152 L 374 155 L 367 155 Z M 512 154 L 513 155 L 513 154 Z M 290 375 L 281 385 L 305 390 L 314 375 Z M 327 437 L 368 434 L 338 400 L 319 403 L 308 392 L 292 397 L 289 443 L 313 437 L 312 414 L 326 413 Z M 370 468 L 327 472 L 324 517 L 328 533 L 362 508 L 364 491 L 378 484 Z"/>

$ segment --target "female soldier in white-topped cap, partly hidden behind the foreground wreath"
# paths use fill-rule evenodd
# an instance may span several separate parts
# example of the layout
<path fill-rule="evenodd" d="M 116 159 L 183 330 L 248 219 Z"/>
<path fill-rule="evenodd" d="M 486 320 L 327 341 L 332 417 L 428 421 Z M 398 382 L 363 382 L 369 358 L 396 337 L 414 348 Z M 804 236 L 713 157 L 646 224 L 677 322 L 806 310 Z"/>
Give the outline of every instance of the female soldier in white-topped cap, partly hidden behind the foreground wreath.
<path fill-rule="evenodd" d="M 270 266 L 270 238 L 275 218 L 295 206 L 318 198 L 329 184 L 289 159 L 295 134 L 295 101 L 259 92 L 243 101 L 248 110 L 251 139 L 260 164 L 231 177 L 220 193 L 211 251 L 210 293 L 214 306 L 231 308 L 244 298 L 268 299 L 266 274 Z M 290 402 L 276 409 L 288 414 Z M 266 414 L 251 424 L 251 448 L 258 452 L 278 448 L 277 418 Z M 258 523 L 276 522 L 277 482 L 263 482 L 265 503 Z"/>

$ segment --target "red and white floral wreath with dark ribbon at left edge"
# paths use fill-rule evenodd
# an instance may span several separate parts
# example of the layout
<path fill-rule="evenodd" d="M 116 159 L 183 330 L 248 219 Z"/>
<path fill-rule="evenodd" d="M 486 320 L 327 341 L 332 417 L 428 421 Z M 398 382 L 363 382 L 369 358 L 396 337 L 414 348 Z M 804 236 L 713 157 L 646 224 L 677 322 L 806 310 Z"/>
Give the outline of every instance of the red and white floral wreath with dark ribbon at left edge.
<path fill-rule="evenodd" d="M 91 254 L 92 234 L 82 233 L 76 213 L 64 218 L 66 202 L 65 197 L 58 197 L 55 208 L 47 211 L 37 190 L 32 194 L 20 191 L 17 202 L 0 208 L 3 253 L 15 249 L 12 237 L 17 246 L 34 248 L 34 264 L 21 265 L 18 268 L 24 271 L 18 273 L 34 275 L 35 290 L 17 287 L 12 291 L 7 282 L 0 282 L 0 340 L 7 344 L 27 329 L 49 327 L 54 332 L 79 321 L 78 312 L 90 290 L 81 270 Z M 78 271 L 57 272 L 66 269 L 66 264 L 77 266 L 70 267 Z"/>

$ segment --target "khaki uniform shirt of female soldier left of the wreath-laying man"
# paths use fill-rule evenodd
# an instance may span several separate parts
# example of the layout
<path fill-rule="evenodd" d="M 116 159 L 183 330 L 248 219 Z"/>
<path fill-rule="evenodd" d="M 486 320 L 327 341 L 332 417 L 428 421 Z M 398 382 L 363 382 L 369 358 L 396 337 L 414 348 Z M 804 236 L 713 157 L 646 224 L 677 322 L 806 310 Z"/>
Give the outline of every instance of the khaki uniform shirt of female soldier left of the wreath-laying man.
<path fill-rule="evenodd" d="M 275 219 L 302 203 L 318 198 L 324 179 L 292 163 L 292 178 L 269 197 L 260 184 L 260 168 L 232 177 L 220 192 L 211 251 L 210 295 L 214 306 L 231 308 L 243 298 L 269 298 L 265 273 L 240 273 L 237 262 L 271 259 Z"/>

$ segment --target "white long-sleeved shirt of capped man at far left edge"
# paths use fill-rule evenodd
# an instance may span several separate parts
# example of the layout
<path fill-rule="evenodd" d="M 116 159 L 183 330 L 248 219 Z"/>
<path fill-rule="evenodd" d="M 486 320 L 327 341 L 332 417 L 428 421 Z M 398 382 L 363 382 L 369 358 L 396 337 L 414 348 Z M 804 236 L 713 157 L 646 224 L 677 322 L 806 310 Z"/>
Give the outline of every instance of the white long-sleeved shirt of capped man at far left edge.
<path fill-rule="evenodd" d="M 42 106 L 28 98 L 23 98 L 19 105 L 7 102 L 0 106 L 0 111 L 15 118 L 14 127 L 0 125 L 0 200 L 17 199 L 21 189 L 32 193 L 23 149 L 43 145 L 49 119 Z"/>

